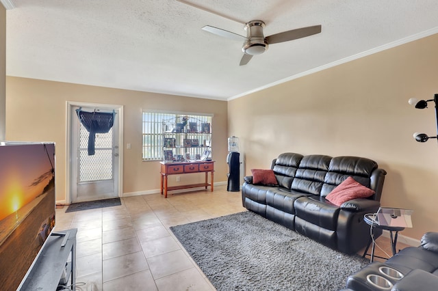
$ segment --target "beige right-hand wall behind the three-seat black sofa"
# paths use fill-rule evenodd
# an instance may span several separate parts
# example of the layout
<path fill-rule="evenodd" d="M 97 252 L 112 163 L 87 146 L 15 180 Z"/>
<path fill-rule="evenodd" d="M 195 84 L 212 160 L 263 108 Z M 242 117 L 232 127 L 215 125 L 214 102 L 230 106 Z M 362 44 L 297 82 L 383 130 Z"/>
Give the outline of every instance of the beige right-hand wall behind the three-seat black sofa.
<path fill-rule="evenodd" d="M 372 158 L 388 172 L 383 206 L 415 210 L 402 234 L 438 231 L 437 140 L 413 139 L 436 134 L 434 106 L 407 102 L 438 93 L 437 52 L 430 36 L 229 101 L 246 174 L 282 152 Z"/>

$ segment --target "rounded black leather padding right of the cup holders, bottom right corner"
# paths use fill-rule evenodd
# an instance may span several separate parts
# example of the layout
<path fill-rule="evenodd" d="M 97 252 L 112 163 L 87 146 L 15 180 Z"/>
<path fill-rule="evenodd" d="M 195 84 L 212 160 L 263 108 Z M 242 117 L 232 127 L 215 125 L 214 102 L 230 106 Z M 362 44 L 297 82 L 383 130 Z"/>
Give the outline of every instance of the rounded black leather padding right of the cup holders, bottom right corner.
<path fill-rule="evenodd" d="M 435 291 L 438 286 L 438 276 L 422 269 L 415 269 L 398 281 L 391 291 Z"/>

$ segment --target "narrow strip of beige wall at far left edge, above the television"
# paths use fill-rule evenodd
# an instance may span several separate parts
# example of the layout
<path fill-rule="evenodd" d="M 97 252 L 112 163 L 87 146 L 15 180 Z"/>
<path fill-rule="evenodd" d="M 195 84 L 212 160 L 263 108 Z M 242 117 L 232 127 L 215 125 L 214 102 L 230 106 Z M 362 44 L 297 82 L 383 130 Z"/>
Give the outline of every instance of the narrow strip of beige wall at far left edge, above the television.
<path fill-rule="evenodd" d="M 6 120 L 6 10 L 0 5 L 0 141 L 5 139 Z"/>

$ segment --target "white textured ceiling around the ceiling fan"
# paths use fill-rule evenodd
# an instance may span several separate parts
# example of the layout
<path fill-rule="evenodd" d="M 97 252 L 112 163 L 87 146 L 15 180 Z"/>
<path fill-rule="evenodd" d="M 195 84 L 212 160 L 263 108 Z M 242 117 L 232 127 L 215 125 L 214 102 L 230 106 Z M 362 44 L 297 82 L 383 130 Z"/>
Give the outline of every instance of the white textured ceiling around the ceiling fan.
<path fill-rule="evenodd" d="M 305 72 L 438 33 L 436 0 L 187 0 L 265 36 L 322 25 L 239 66 L 244 25 L 176 0 L 13 0 L 9 76 L 227 100 Z"/>

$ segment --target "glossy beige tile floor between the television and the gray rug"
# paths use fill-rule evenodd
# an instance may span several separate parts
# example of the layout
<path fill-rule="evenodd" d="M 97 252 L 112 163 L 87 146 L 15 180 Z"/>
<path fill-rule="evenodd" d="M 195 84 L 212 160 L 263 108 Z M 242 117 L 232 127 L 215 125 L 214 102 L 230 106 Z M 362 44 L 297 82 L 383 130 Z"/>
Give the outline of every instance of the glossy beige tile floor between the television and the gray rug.
<path fill-rule="evenodd" d="M 55 230 L 77 228 L 77 282 L 86 283 L 77 290 L 215 290 L 168 227 L 242 212 L 240 192 L 215 186 L 213 193 L 121 200 L 110 208 L 56 210 Z M 390 253 L 389 239 L 377 241 Z"/>

